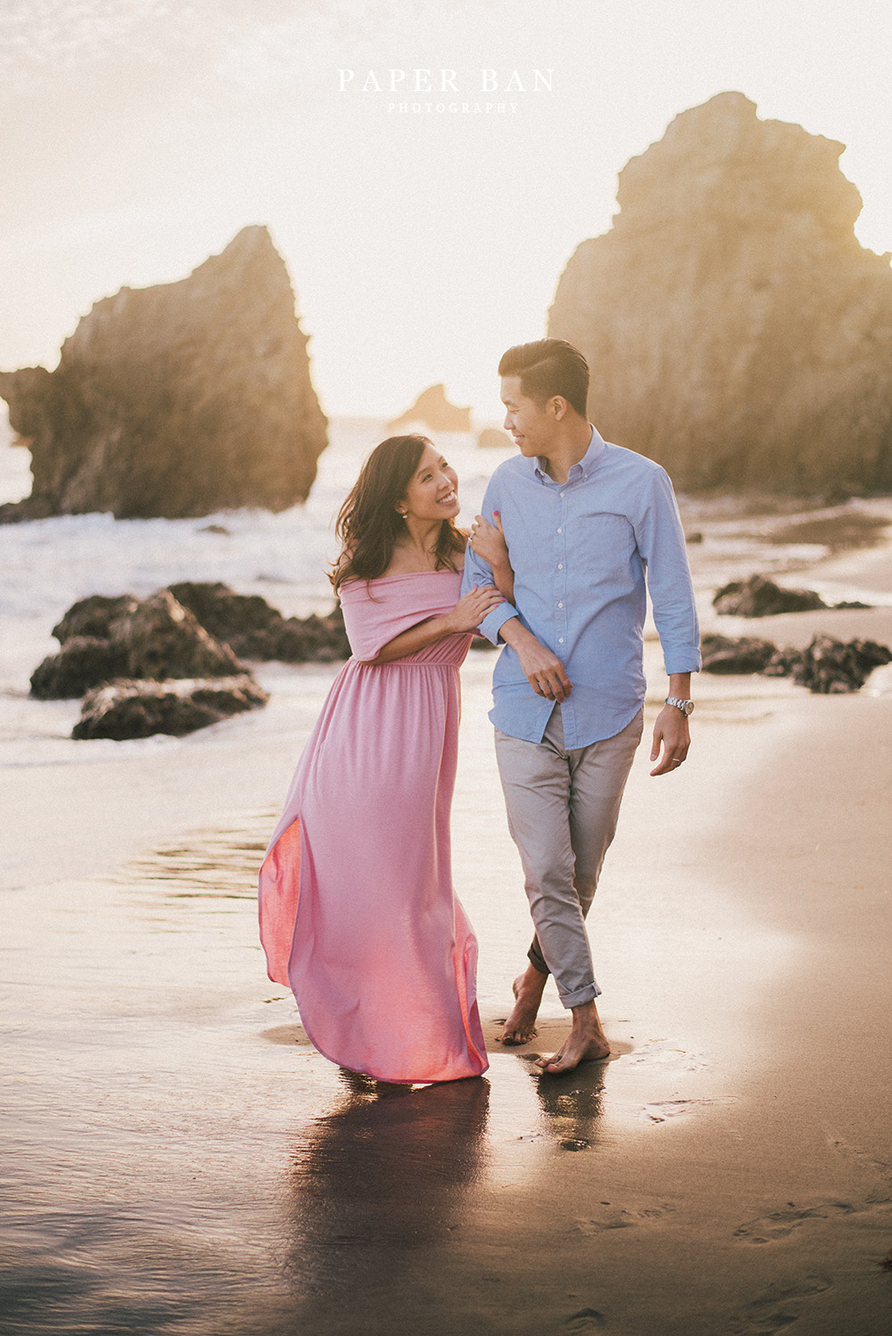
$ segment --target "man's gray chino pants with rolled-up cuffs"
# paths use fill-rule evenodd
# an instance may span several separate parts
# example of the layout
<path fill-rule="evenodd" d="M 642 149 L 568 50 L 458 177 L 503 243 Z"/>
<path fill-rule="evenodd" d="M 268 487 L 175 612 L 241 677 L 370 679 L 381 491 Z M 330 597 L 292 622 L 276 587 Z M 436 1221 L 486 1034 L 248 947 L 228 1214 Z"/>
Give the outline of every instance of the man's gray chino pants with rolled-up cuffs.
<path fill-rule="evenodd" d="M 644 729 L 644 709 L 604 741 L 566 751 L 561 707 L 541 743 L 495 729 L 507 824 L 523 864 L 535 926 L 529 951 L 553 974 L 565 1007 L 598 997 L 585 916 L 617 828 L 622 791 Z"/>

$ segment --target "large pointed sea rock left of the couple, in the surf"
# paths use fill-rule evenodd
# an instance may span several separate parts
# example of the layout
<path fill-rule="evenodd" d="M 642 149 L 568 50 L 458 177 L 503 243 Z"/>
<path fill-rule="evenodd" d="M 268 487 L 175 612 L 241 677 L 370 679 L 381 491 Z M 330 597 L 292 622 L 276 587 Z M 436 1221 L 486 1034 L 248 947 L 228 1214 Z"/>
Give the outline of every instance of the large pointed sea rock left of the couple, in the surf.
<path fill-rule="evenodd" d="M 327 442 L 306 343 L 266 227 L 246 227 L 179 283 L 104 298 L 55 371 L 0 373 L 33 473 L 32 494 L 0 520 L 303 500 Z"/>

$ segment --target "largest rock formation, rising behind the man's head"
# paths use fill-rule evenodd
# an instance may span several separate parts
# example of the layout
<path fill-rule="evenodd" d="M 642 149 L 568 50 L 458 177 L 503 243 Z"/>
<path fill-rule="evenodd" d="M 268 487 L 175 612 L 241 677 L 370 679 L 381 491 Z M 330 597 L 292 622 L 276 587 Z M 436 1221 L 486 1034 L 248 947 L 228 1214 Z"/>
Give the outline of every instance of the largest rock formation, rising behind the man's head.
<path fill-rule="evenodd" d="M 589 359 L 593 421 L 681 488 L 892 488 L 892 271 L 843 148 L 720 94 L 628 163 L 561 277 L 549 334 Z"/>

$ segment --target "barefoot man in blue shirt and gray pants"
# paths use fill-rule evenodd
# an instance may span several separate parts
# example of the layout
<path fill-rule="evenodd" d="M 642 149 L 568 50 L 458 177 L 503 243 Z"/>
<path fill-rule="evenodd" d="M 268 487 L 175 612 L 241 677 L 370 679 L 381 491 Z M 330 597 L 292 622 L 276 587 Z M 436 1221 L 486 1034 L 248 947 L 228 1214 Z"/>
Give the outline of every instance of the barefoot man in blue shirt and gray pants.
<path fill-rule="evenodd" d="M 486 489 L 463 589 L 491 578 L 483 557 L 497 560 L 493 524 L 505 536 L 514 595 L 481 631 L 505 644 L 490 719 L 535 927 L 502 1042 L 535 1034 L 551 973 L 573 1025 L 561 1050 L 538 1065 L 560 1073 L 610 1051 L 584 921 L 642 732 L 645 576 L 669 675 L 652 775 L 672 774 L 688 755 L 700 636 L 672 484 L 652 460 L 605 444 L 588 422 L 582 354 L 539 339 L 509 349 L 498 371 L 505 429 L 521 453 Z"/>

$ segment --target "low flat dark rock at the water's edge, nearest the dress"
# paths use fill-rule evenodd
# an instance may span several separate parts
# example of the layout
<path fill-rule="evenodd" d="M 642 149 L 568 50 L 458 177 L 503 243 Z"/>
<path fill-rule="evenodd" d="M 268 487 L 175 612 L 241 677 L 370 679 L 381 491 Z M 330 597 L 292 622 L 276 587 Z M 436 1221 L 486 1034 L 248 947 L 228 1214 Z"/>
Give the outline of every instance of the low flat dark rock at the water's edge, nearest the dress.
<path fill-rule="evenodd" d="M 268 695 L 243 673 L 215 681 L 115 681 L 85 697 L 72 737 L 179 737 L 264 705 Z"/>

